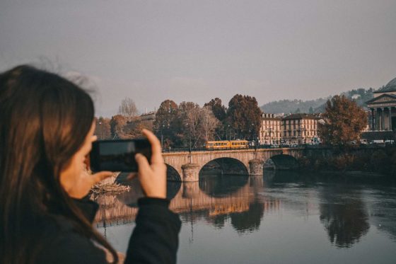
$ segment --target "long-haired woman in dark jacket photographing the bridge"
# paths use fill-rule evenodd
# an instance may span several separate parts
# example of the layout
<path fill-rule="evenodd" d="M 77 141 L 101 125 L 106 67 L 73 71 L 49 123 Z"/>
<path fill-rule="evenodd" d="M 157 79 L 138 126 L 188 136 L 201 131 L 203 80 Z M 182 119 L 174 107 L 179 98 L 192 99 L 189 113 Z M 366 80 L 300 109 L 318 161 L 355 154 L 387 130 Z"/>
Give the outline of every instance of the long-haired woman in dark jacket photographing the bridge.
<path fill-rule="evenodd" d="M 19 66 L 0 74 L 0 263 L 113 263 L 117 253 L 92 221 L 92 185 L 111 176 L 83 173 L 96 139 L 91 97 L 56 74 Z M 180 219 L 168 210 L 158 139 L 151 164 L 136 154 L 146 197 L 125 263 L 175 263 Z"/>

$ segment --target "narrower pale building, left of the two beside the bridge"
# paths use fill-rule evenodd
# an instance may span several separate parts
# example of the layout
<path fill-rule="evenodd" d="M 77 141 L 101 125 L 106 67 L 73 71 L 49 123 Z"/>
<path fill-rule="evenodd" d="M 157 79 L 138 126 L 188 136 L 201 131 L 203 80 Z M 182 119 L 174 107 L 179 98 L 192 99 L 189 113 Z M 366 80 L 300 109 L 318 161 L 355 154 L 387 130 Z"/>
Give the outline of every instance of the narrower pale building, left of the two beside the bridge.
<path fill-rule="evenodd" d="M 260 144 L 274 145 L 281 143 L 282 119 L 274 114 L 262 114 L 260 126 Z"/>

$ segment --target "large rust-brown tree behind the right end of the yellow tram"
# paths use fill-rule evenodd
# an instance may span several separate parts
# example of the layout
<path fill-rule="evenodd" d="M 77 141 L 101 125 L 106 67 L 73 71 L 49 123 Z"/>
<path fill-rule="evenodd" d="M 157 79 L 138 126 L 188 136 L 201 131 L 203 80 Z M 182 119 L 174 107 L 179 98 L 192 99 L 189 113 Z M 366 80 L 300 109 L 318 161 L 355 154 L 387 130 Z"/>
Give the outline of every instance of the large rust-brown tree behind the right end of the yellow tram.
<path fill-rule="evenodd" d="M 228 103 L 227 123 L 233 130 L 238 130 L 240 138 L 253 139 L 259 135 L 261 115 L 255 97 L 236 94 Z"/>

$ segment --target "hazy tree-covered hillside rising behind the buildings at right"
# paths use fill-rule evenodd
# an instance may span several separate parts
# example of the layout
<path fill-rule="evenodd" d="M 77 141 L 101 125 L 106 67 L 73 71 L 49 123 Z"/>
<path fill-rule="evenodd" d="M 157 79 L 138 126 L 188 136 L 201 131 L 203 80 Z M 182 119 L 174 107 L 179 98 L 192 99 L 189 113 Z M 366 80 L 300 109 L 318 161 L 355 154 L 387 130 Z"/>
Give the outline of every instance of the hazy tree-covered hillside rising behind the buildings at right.
<path fill-rule="evenodd" d="M 342 93 L 347 98 L 356 101 L 356 103 L 363 108 L 366 108 L 366 101 L 373 98 L 373 88 L 358 88 Z M 352 99 L 354 96 L 354 99 Z M 318 98 L 315 100 L 279 100 L 272 101 L 262 105 L 260 108 L 264 113 L 322 113 L 325 110 L 327 98 Z"/>

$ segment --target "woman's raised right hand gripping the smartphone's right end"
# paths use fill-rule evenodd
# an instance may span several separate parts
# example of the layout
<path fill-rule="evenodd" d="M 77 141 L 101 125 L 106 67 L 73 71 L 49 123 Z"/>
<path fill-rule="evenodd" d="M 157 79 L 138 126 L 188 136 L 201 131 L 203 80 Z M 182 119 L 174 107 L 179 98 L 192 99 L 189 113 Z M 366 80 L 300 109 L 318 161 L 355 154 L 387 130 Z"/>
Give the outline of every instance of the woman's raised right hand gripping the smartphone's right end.
<path fill-rule="evenodd" d="M 146 197 L 166 198 L 166 165 L 163 162 L 161 143 L 153 132 L 142 130 L 151 144 L 151 164 L 142 154 L 136 154 L 139 166 L 137 176 Z"/>

